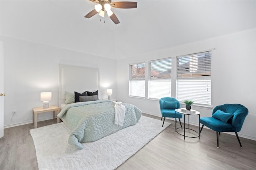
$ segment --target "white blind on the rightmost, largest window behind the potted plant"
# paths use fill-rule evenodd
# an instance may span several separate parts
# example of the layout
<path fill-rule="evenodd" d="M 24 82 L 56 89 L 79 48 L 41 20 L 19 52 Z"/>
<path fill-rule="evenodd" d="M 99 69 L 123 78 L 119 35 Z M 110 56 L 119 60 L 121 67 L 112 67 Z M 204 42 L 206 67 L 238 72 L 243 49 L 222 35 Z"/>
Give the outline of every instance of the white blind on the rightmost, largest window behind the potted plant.
<path fill-rule="evenodd" d="M 177 57 L 176 98 L 211 104 L 211 51 Z"/>

